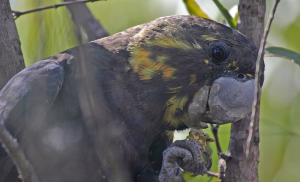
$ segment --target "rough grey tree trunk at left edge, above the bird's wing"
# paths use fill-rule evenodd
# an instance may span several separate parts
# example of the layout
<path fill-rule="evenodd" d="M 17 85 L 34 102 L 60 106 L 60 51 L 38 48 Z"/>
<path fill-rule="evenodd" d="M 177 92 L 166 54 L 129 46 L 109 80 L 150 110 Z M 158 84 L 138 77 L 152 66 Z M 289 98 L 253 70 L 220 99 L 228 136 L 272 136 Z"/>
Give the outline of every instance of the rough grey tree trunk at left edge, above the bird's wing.
<path fill-rule="evenodd" d="M 0 3 L 0 90 L 16 73 L 25 68 L 16 24 L 9 0 Z"/>

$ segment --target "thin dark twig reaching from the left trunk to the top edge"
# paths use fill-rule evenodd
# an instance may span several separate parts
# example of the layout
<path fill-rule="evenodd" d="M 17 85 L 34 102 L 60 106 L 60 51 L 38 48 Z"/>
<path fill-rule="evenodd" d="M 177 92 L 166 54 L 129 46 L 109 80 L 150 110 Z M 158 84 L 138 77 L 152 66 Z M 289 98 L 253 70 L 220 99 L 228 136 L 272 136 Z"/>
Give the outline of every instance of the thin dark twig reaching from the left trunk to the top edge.
<path fill-rule="evenodd" d="M 31 10 L 25 10 L 25 11 L 12 11 L 13 12 L 13 18 L 17 19 L 19 16 L 23 15 L 23 14 L 27 14 L 27 13 L 32 13 L 32 12 L 37 12 L 37 11 L 41 11 L 41 10 L 46 10 L 46 9 L 50 9 L 50 8 L 58 8 L 60 6 L 66 6 L 66 5 L 70 5 L 70 4 L 80 4 L 80 3 L 86 3 L 86 2 L 94 2 L 94 1 L 101 1 L 101 0 L 77 0 L 77 1 L 68 1 L 68 2 L 63 2 L 63 3 L 58 3 L 58 4 L 52 4 L 49 6 L 41 6 L 41 7 L 37 7 L 35 9 L 31 9 Z M 106 0 L 105 0 L 106 1 Z"/>

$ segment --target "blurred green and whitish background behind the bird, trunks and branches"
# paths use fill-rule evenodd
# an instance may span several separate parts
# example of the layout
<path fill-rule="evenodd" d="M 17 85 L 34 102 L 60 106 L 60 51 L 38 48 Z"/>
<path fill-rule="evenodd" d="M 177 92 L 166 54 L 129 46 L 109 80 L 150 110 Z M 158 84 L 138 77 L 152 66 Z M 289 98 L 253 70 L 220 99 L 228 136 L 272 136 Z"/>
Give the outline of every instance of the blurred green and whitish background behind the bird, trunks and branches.
<path fill-rule="evenodd" d="M 12 10 L 28 10 L 60 3 L 60 0 L 10 0 Z M 218 22 L 223 17 L 211 0 L 197 1 L 208 16 Z M 231 9 L 238 0 L 220 0 Z M 268 17 L 274 0 L 267 0 Z M 160 16 L 188 14 L 182 0 L 107 0 L 87 3 L 104 28 L 114 34 Z M 278 5 L 267 46 L 280 46 L 300 52 L 300 1 L 284 0 Z M 22 15 L 16 19 L 26 66 L 78 45 L 75 26 L 66 7 Z M 300 67 L 290 60 L 265 58 L 265 82 L 260 109 L 259 180 L 262 182 L 299 181 L 300 179 Z M 210 129 L 204 130 L 212 136 Z M 184 139 L 187 132 L 176 133 Z M 226 152 L 230 124 L 219 129 Z M 217 172 L 218 157 L 214 143 L 212 171 Z M 209 181 L 210 177 L 188 178 Z M 216 181 L 213 178 L 212 181 Z"/>

